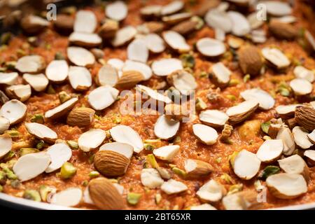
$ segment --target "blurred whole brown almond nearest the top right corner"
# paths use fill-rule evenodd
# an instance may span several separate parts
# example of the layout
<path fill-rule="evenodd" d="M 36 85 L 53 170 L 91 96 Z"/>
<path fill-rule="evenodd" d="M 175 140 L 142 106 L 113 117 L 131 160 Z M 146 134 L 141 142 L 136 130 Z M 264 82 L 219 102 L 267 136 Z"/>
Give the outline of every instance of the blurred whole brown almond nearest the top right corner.
<path fill-rule="evenodd" d="M 297 36 L 297 29 L 293 25 L 274 20 L 269 23 L 269 31 L 281 39 L 292 40 Z"/>

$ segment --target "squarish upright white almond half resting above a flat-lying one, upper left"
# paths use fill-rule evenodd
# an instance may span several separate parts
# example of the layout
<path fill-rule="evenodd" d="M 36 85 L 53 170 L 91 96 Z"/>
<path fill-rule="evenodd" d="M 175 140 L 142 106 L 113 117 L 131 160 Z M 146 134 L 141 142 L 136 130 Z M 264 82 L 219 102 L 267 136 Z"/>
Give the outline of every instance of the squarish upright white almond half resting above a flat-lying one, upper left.
<path fill-rule="evenodd" d="M 93 33 L 97 27 L 97 18 L 90 10 L 79 10 L 76 13 L 73 30 L 76 32 Z"/>

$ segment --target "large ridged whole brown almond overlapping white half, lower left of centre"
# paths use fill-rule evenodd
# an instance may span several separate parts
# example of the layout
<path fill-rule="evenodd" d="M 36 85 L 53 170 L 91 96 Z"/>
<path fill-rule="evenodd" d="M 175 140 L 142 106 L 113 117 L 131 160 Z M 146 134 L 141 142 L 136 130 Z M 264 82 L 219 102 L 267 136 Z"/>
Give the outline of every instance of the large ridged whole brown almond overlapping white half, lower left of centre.
<path fill-rule="evenodd" d="M 130 159 L 114 151 L 98 151 L 94 157 L 94 167 L 104 176 L 120 176 L 125 174 Z"/>

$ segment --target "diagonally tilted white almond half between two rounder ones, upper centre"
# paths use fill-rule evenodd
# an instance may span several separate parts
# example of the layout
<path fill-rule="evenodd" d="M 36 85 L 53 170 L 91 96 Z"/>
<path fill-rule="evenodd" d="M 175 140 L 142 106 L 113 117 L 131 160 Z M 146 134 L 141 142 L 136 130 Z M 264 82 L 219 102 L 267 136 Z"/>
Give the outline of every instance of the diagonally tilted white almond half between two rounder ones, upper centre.
<path fill-rule="evenodd" d="M 186 43 L 186 40 L 181 34 L 176 31 L 164 31 L 162 37 L 169 47 L 178 52 L 188 52 L 190 50 L 190 45 Z"/>

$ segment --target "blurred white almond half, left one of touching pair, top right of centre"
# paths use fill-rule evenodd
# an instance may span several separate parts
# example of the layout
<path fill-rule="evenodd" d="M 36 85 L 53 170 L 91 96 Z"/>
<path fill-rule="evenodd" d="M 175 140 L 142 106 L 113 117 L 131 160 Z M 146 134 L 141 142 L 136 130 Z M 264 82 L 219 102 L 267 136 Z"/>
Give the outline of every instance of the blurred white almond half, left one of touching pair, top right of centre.
<path fill-rule="evenodd" d="M 227 13 L 222 10 L 212 9 L 204 17 L 209 27 L 218 28 L 226 33 L 232 31 L 232 21 Z"/>

